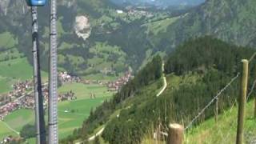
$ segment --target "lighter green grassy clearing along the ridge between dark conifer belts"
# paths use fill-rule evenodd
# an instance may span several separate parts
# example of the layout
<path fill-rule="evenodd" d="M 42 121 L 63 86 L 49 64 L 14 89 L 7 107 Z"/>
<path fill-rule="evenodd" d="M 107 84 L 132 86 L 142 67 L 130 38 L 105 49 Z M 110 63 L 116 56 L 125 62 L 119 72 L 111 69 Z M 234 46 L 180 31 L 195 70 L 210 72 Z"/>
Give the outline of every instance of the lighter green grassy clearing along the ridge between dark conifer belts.
<path fill-rule="evenodd" d="M 166 81 L 167 81 L 166 90 L 163 92 L 162 95 L 160 95 L 160 97 L 165 96 L 166 94 L 171 94 L 172 91 L 174 90 L 174 88 L 177 88 L 180 84 L 196 82 L 196 80 L 198 78 L 199 78 L 198 75 L 192 76 L 192 75 L 188 74 L 185 77 L 181 78 L 174 74 L 168 74 L 168 75 L 166 75 Z M 138 106 L 138 108 L 145 106 L 147 104 L 147 101 L 150 98 L 155 98 L 156 94 L 158 94 L 158 91 L 161 89 L 162 89 L 162 78 L 160 78 L 156 82 L 152 82 L 149 86 L 142 88 L 140 93 L 138 93 L 134 97 L 128 98 L 128 99 L 126 99 L 126 101 L 122 102 L 122 106 L 120 106 L 119 109 L 115 110 L 114 113 L 109 116 L 109 118 L 108 118 L 109 120 L 104 125 L 98 126 L 98 128 L 94 130 L 94 134 L 96 134 L 98 132 L 98 130 L 101 130 L 103 126 L 107 126 L 108 123 L 111 122 L 111 120 L 113 120 L 114 118 L 117 118 L 117 115 L 120 114 L 120 112 L 122 110 L 130 109 L 130 107 L 134 106 L 134 105 Z M 94 134 L 90 134 L 90 135 L 94 135 Z M 142 143 L 148 143 L 148 142 L 154 143 L 154 141 L 152 141 L 152 139 L 150 139 L 151 134 L 152 133 L 151 133 L 151 130 L 149 127 L 149 134 L 146 134 Z M 107 143 L 107 142 L 104 142 L 102 137 L 100 137 L 100 140 L 101 140 L 101 143 Z M 81 139 L 78 139 L 76 142 L 81 142 L 81 141 L 82 141 Z"/>

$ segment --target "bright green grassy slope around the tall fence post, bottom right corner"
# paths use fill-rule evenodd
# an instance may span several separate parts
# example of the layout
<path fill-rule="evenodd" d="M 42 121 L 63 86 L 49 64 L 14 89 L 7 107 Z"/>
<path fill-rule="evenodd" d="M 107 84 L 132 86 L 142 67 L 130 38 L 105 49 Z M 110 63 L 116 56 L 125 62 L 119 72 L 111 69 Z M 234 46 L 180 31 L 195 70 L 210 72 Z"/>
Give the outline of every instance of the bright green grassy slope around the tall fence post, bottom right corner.
<path fill-rule="evenodd" d="M 256 138 L 256 119 L 254 119 L 254 102 L 246 104 L 245 141 L 251 142 Z M 235 143 L 237 129 L 238 106 L 232 107 L 218 117 L 202 122 L 186 134 L 185 143 Z"/>

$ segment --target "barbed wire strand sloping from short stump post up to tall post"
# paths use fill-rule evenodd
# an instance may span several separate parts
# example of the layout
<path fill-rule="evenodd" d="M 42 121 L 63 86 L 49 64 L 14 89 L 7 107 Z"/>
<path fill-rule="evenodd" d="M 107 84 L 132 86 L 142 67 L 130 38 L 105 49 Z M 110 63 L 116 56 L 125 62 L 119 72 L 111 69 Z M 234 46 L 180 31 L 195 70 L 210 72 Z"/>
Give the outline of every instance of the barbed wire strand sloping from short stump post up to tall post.
<path fill-rule="evenodd" d="M 215 101 L 215 100 L 216 100 L 216 99 L 234 82 L 234 80 L 236 80 L 236 79 L 239 77 L 240 74 L 241 74 L 241 73 L 238 73 L 234 78 L 232 78 L 232 79 L 230 80 L 230 82 L 227 83 L 226 86 L 224 86 L 224 88 L 223 88 L 222 90 L 220 90 L 220 91 L 218 92 L 218 94 L 217 94 L 214 98 L 211 99 L 211 101 L 198 113 L 198 115 L 195 116 L 195 117 L 192 119 L 192 121 L 188 124 L 188 126 L 186 126 L 185 130 L 188 130 L 188 129 L 193 125 L 193 123 L 203 114 L 203 112 L 204 112 L 209 106 L 211 106 L 211 104 L 214 103 L 214 101 Z"/>

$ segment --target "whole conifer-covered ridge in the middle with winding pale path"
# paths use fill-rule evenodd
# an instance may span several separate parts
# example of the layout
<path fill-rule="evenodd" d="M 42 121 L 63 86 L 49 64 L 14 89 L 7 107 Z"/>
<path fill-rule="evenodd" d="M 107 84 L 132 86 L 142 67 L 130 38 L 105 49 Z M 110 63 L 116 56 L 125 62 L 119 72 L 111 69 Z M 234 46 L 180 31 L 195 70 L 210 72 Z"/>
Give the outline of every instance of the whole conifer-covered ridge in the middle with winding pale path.
<path fill-rule="evenodd" d="M 106 142 L 140 143 L 150 126 L 159 123 L 168 126 L 169 122 L 186 125 L 218 90 L 238 74 L 241 59 L 250 58 L 253 53 L 251 48 L 233 46 L 208 36 L 190 39 L 167 56 L 165 73 L 168 86 L 159 98 L 155 94 L 162 86 L 158 79 L 161 74 L 154 69 L 160 69 L 162 62 L 156 57 L 112 100 L 92 111 L 82 129 L 76 130 L 69 140 L 86 138 L 98 126 L 106 125 L 102 134 Z M 254 63 L 250 64 L 252 69 Z M 250 77 L 254 77 L 254 73 Z M 226 110 L 234 103 L 239 94 L 238 86 L 239 82 L 234 82 L 222 94 L 220 110 Z M 120 111 L 118 118 L 110 116 L 117 110 Z M 210 106 L 196 123 L 213 115 L 214 106 Z"/>

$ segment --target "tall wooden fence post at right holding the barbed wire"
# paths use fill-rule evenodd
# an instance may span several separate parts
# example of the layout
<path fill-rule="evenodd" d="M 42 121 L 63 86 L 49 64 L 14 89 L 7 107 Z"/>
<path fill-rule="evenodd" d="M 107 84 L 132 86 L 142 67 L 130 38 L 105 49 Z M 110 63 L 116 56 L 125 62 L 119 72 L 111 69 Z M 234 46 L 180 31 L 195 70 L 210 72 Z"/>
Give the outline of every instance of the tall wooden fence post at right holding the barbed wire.
<path fill-rule="evenodd" d="M 241 79 L 241 91 L 238 106 L 238 129 L 237 129 L 237 141 L 236 144 L 242 144 L 243 142 L 243 123 L 245 118 L 245 106 L 246 106 L 246 92 L 248 82 L 248 64 L 246 59 L 242 60 L 242 79 Z"/>

